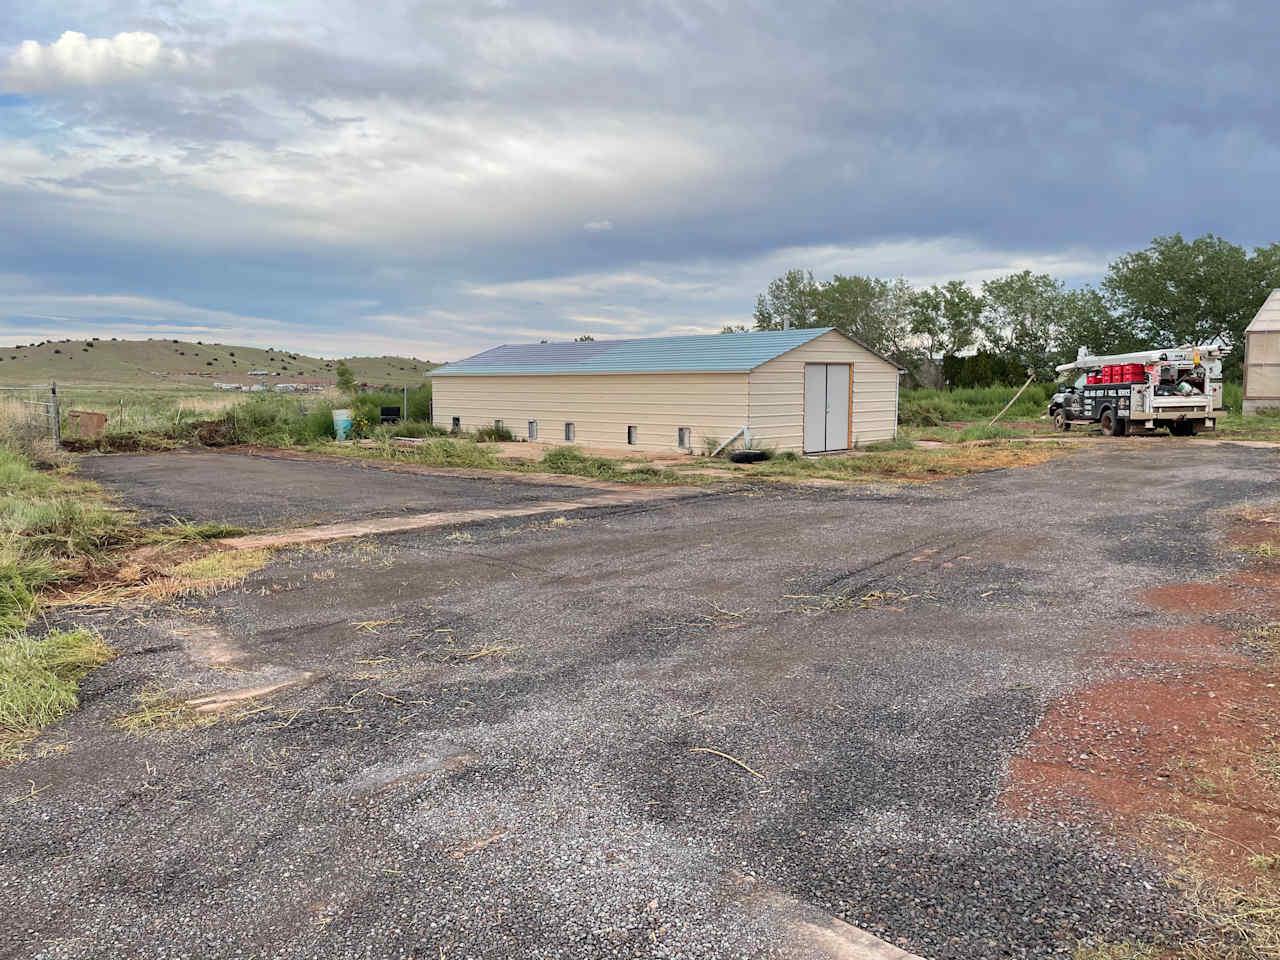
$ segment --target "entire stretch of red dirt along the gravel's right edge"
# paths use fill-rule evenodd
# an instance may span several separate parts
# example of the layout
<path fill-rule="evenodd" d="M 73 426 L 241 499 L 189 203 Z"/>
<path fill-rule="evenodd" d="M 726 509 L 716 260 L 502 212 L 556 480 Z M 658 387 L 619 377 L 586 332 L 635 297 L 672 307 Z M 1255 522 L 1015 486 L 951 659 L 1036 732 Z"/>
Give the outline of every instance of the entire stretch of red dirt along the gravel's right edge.
<path fill-rule="evenodd" d="M 1192 618 L 1115 631 L 1098 657 L 1140 676 L 1053 703 L 1010 763 L 1001 805 L 1110 824 L 1175 864 L 1190 856 L 1220 882 L 1252 886 L 1257 858 L 1280 855 L 1280 664 L 1236 644 L 1251 625 L 1280 618 L 1280 572 L 1260 559 L 1139 598 Z"/>

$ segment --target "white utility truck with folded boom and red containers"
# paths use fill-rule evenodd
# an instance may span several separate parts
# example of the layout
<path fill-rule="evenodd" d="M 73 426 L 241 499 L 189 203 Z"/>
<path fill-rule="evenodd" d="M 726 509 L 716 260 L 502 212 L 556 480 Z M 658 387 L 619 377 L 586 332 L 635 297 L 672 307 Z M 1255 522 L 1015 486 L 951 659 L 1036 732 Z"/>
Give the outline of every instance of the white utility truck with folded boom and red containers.
<path fill-rule="evenodd" d="M 1059 430 L 1098 424 L 1107 436 L 1167 428 L 1174 436 L 1212 430 L 1222 412 L 1222 357 L 1230 347 L 1172 347 L 1092 356 L 1080 347 L 1062 374 L 1048 415 Z"/>

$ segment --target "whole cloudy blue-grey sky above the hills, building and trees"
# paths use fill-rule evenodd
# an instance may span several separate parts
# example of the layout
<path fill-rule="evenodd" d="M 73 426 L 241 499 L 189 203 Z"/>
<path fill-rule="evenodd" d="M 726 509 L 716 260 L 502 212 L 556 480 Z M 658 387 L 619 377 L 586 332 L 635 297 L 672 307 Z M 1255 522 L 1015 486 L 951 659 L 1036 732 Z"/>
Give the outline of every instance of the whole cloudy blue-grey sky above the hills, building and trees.
<path fill-rule="evenodd" d="M 1280 239 L 1274 0 L 0 8 L 0 343 L 448 360 Z"/>

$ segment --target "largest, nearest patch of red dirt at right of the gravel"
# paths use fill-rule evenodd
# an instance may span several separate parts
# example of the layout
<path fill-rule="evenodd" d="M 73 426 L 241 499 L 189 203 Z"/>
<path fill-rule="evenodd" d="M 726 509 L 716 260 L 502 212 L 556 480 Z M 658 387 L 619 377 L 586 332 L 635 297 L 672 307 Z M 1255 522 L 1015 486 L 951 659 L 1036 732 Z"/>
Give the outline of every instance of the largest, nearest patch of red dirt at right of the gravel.
<path fill-rule="evenodd" d="M 1253 759 L 1276 737 L 1280 686 L 1260 671 L 1103 684 L 1046 713 L 1010 765 L 1002 804 L 1101 817 L 1156 844 L 1181 832 L 1161 817 L 1185 820 L 1217 873 L 1245 878 L 1245 856 L 1280 851 L 1280 782 Z"/>

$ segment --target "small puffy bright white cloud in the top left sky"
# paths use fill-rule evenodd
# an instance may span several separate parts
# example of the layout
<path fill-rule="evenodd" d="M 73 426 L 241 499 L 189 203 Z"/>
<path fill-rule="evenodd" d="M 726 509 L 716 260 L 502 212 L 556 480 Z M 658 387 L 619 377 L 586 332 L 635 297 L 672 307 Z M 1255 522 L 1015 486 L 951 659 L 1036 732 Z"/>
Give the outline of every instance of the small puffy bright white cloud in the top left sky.
<path fill-rule="evenodd" d="M 166 47 L 155 33 L 87 37 L 67 31 L 47 46 L 24 41 L 9 56 L 4 87 L 37 92 L 63 87 L 96 87 L 187 70 L 191 58 Z"/>

